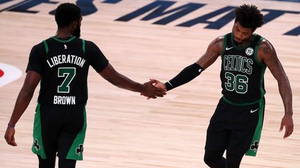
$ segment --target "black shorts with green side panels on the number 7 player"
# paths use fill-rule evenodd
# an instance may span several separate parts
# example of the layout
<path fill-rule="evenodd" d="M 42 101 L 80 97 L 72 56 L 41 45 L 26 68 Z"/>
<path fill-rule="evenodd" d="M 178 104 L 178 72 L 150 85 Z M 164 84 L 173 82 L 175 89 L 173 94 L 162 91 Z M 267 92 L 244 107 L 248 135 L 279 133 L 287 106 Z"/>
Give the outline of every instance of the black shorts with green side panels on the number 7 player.
<path fill-rule="evenodd" d="M 59 158 L 83 160 L 87 127 L 85 113 L 85 104 L 38 104 L 33 125 L 33 153 L 43 159 L 57 153 Z"/>

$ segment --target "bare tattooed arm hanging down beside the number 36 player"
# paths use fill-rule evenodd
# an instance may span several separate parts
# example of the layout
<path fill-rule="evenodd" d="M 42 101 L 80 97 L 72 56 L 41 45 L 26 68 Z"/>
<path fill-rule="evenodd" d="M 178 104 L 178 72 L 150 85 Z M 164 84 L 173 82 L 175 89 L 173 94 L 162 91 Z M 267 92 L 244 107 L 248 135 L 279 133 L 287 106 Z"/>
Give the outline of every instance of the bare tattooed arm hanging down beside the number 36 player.
<path fill-rule="evenodd" d="M 285 134 L 283 138 L 287 138 L 294 131 L 294 123 L 292 120 L 292 89 L 290 87 L 288 76 L 285 74 L 274 47 L 266 39 L 260 43 L 258 48 L 258 59 L 265 62 L 269 71 L 271 71 L 272 75 L 278 82 L 279 93 L 281 94 L 285 109 L 285 114 L 281 120 L 281 127 L 279 131 L 282 131 L 283 127 L 285 127 Z"/>

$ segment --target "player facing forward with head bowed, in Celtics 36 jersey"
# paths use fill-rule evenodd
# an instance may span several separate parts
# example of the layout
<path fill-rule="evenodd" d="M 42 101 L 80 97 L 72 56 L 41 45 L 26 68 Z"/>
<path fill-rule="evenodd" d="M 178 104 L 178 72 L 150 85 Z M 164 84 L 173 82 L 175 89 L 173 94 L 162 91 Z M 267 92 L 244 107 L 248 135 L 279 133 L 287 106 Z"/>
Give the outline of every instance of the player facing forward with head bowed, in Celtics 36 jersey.
<path fill-rule="evenodd" d="M 209 167 L 240 166 L 246 153 L 256 156 L 265 111 L 264 73 L 269 68 L 278 82 L 285 114 L 280 131 L 283 138 L 293 131 L 292 91 L 275 49 L 267 39 L 253 33 L 263 26 L 263 15 L 254 5 L 235 11 L 231 33 L 217 37 L 200 59 L 183 69 L 172 80 L 156 86 L 170 91 L 200 75 L 221 55 L 220 78 L 223 97 L 210 120 L 204 161 Z M 223 157 L 226 150 L 226 158 Z"/>

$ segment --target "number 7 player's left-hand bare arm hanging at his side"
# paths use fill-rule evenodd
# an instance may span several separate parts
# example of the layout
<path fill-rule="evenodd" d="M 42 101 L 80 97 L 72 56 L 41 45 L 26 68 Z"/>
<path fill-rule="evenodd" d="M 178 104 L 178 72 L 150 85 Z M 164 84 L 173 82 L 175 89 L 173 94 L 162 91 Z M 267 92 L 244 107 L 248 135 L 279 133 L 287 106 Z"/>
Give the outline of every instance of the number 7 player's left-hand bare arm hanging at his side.
<path fill-rule="evenodd" d="M 10 121 L 8 122 L 8 127 L 4 136 L 6 142 L 12 146 L 17 146 L 17 143 L 15 142 L 15 124 L 26 110 L 39 82 L 40 74 L 36 73 L 35 71 L 27 72 L 24 84 L 17 97 L 15 108 L 12 111 L 12 115 Z"/>

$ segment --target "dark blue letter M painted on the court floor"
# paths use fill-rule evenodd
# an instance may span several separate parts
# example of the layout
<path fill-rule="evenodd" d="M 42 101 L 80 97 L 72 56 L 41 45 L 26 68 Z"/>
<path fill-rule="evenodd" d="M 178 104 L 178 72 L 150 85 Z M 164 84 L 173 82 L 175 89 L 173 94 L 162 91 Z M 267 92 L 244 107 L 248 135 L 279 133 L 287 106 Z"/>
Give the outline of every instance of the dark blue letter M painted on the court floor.
<path fill-rule="evenodd" d="M 153 23 L 153 24 L 165 25 L 165 24 L 169 24 L 170 22 L 180 17 L 188 15 L 190 12 L 193 12 L 194 10 L 201 8 L 202 6 L 205 6 L 205 4 L 201 4 L 201 3 L 188 3 L 186 5 L 179 6 L 172 10 L 165 11 L 174 3 L 176 2 L 175 1 L 154 1 L 148 4 L 147 6 L 144 6 L 138 10 L 135 10 L 134 12 L 124 15 L 119 19 L 116 19 L 116 21 L 130 21 L 131 19 L 134 19 L 135 17 L 139 17 L 140 15 L 144 15 L 145 13 L 150 12 L 151 10 L 153 11 L 146 17 L 143 17 L 141 20 L 148 21 L 156 17 L 161 17 L 163 15 L 168 15 L 173 13 L 172 15 L 169 15 L 168 17 L 165 17 Z"/>

